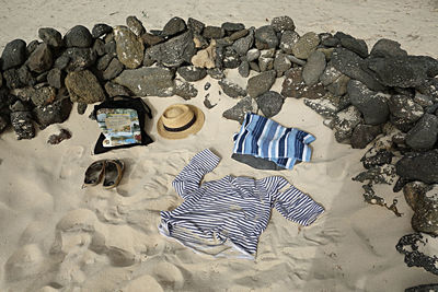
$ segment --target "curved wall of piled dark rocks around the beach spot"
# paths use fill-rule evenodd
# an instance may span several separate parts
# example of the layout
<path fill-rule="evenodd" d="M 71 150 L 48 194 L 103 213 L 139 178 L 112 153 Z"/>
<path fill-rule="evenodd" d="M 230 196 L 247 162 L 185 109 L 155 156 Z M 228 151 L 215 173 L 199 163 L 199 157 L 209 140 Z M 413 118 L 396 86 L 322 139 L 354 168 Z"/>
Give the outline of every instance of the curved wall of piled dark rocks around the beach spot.
<path fill-rule="evenodd" d="M 242 122 L 249 110 L 273 117 L 285 98 L 303 98 L 336 141 L 357 149 L 373 143 L 361 159 L 366 171 L 354 177 L 364 183 L 366 201 L 400 215 L 396 201 L 388 206 L 372 188 L 396 182 L 394 191 L 403 189 L 415 211 L 414 230 L 437 234 L 438 60 L 411 56 L 391 39 L 369 50 L 342 32 L 299 35 L 295 28 L 289 16 L 258 28 L 173 17 L 157 31 L 135 16 L 91 32 L 77 25 L 64 36 L 39 28 L 38 40 L 14 39 L 1 55 L 0 132 L 11 124 L 18 139 L 31 139 L 34 121 L 42 129 L 62 122 L 72 103 L 83 114 L 88 104 L 117 95 L 189 100 L 198 94 L 191 82 L 208 74 L 238 100 L 224 118 Z M 224 69 L 255 74 L 241 87 Z M 270 90 L 277 78 L 280 93 Z M 204 104 L 211 108 L 208 96 Z"/>

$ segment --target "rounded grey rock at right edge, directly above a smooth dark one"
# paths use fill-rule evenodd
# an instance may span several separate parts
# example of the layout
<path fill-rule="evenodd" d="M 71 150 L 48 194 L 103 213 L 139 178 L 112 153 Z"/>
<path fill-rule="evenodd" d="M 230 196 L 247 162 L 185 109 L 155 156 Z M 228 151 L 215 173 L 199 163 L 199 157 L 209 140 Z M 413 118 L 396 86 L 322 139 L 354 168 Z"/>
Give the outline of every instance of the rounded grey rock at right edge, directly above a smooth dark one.
<path fill-rule="evenodd" d="M 414 150 L 434 148 L 438 135 L 438 117 L 425 114 L 406 135 L 406 144 Z"/>

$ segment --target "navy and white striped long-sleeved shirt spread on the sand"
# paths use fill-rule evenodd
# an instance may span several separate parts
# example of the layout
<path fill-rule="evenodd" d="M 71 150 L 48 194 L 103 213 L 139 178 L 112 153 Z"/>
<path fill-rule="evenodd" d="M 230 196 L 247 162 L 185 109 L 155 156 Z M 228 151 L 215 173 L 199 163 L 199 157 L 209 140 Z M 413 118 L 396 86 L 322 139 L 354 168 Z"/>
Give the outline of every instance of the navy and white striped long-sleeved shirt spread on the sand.
<path fill-rule="evenodd" d="M 200 185 L 218 163 L 219 157 L 206 149 L 175 177 L 173 187 L 184 202 L 172 211 L 161 211 L 159 230 L 163 235 L 195 252 L 253 259 L 273 207 L 301 225 L 311 224 L 324 211 L 281 176 L 253 179 L 229 175 Z"/>

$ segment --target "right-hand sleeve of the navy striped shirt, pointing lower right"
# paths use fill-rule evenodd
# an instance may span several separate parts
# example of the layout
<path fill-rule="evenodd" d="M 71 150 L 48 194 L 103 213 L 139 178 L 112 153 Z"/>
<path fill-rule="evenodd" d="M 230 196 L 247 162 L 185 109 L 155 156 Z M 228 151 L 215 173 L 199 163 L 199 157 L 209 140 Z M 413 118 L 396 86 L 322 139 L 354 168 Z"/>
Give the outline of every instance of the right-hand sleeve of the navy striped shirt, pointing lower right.
<path fill-rule="evenodd" d="M 274 197 L 274 207 L 286 219 L 308 226 L 324 212 L 324 208 L 308 195 L 291 186 Z"/>

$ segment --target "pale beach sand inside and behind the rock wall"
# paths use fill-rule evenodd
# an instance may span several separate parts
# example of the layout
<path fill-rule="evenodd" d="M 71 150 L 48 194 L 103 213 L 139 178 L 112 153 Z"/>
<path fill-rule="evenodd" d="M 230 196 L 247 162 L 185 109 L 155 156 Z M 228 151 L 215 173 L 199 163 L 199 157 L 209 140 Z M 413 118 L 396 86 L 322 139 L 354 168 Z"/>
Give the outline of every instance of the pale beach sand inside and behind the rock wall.
<path fill-rule="evenodd" d="M 0 48 L 14 38 L 37 38 L 42 26 L 64 34 L 77 24 L 90 30 L 99 22 L 125 24 L 128 15 L 137 15 L 147 30 L 161 28 L 176 15 L 247 27 L 289 15 L 301 34 L 343 31 L 369 47 L 387 37 L 410 54 L 438 57 L 436 0 L 2 1 Z M 211 98 L 220 100 L 211 110 L 203 105 L 207 81 Z M 279 91 L 281 82 L 274 89 Z M 92 156 L 99 129 L 87 118 L 91 107 L 84 116 L 74 107 L 67 122 L 38 131 L 33 140 L 16 141 L 11 130 L 0 136 L 0 291 L 402 291 L 437 281 L 420 268 L 407 268 L 394 248 L 412 232 L 403 195 L 378 188 L 390 202 L 399 199 L 402 218 L 366 205 L 360 184 L 350 179 L 362 170 L 365 150 L 336 143 L 322 117 L 295 98 L 288 98 L 274 119 L 313 133 L 314 154 L 311 163 L 281 174 L 326 212 L 310 227 L 299 229 L 274 211 L 255 261 L 197 255 L 161 236 L 159 211 L 181 203 L 171 182 L 198 151 L 211 148 L 222 156 L 206 179 L 278 174 L 230 159 L 231 137 L 240 126 L 221 114 L 237 101 L 218 96 L 216 80 L 206 78 L 196 86 L 199 94 L 189 103 L 203 108 L 206 125 L 185 140 L 163 140 L 154 127 L 168 105 L 183 102 L 177 96 L 146 98 L 154 112 L 149 132 L 155 142 L 148 147 Z M 60 127 L 71 130 L 72 138 L 47 144 Z M 119 187 L 81 189 L 87 166 L 103 157 L 125 160 Z"/>

